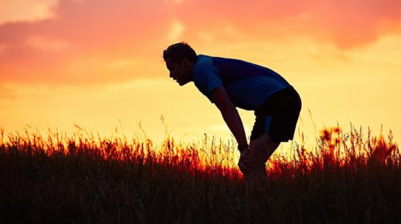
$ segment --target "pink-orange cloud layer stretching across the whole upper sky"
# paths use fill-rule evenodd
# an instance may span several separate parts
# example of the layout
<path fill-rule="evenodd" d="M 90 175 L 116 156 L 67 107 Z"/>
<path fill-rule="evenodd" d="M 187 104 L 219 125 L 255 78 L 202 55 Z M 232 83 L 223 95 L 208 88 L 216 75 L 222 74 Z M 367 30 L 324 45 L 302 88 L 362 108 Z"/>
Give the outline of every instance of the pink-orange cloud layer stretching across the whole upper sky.
<path fill-rule="evenodd" d="M 149 57 L 157 61 L 162 49 L 154 43 L 169 40 L 169 28 L 177 20 L 185 29 L 176 35 L 190 43 L 200 33 L 210 37 L 208 30 L 218 30 L 216 38 L 223 41 L 233 33 L 276 41 L 306 35 L 348 49 L 373 42 L 383 32 L 400 32 L 400 11 L 397 0 L 185 0 L 179 4 L 60 0 L 51 18 L 0 25 L 0 80 L 82 83 L 127 78 L 96 64 L 80 64 L 84 62 L 79 59 Z M 85 77 L 72 74 L 71 65 L 78 71 L 80 66 L 86 68 Z"/>

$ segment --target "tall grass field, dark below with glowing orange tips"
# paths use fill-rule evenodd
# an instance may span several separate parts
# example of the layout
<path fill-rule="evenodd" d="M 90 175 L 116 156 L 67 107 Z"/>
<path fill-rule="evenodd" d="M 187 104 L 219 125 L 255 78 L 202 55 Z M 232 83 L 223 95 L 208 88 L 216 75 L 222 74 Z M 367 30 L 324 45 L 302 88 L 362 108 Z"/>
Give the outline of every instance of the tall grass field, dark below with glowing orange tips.
<path fill-rule="evenodd" d="M 337 134 L 337 136 L 334 136 Z M 2 134 L 3 136 L 3 134 Z M 0 143 L 1 223 L 401 223 L 398 147 L 326 131 L 247 197 L 233 147 L 10 135 Z M 202 153 L 203 152 L 203 153 Z"/>

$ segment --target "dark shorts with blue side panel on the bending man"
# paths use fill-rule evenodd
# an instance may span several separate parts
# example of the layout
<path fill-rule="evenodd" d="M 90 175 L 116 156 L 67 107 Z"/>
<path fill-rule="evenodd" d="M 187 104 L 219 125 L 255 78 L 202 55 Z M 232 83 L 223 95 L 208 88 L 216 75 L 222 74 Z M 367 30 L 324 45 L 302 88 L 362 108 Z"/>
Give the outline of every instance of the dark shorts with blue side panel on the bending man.
<path fill-rule="evenodd" d="M 292 86 L 273 93 L 255 111 L 251 140 L 264 133 L 276 142 L 293 140 L 300 109 L 300 95 Z"/>

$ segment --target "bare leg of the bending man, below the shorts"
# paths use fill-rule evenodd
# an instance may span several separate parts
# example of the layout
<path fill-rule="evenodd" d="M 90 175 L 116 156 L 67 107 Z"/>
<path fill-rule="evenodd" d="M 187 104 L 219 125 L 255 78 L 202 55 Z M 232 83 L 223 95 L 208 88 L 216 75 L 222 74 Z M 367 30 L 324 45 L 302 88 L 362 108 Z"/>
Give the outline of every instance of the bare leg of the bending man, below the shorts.
<path fill-rule="evenodd" d="M 250 191 L 260 191 L 266 185 L 265 163 L 279 145 L 271 140 L 269 134 L 262 134 L 251 140 L 249 150 L 242 152 L 238 166 Z"/>

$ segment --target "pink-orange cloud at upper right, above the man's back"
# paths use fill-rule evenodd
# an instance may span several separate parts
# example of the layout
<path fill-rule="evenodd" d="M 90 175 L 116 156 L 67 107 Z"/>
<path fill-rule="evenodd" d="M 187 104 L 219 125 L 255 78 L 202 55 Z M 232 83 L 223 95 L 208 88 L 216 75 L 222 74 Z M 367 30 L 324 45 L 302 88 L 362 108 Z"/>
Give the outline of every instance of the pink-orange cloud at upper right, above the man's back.
<path fill-rule="evenodd" d="M 264 40 L 307 35 L 349 49 L 377 40 L 400 27 L 401 1 L 185 1 L 177 8 L 187 33 L 232 24 L 241 33 Z M 191 12 L 191 13 L 188 13 Z M 222 35 L 220 35 L 222 37 Z"/>

